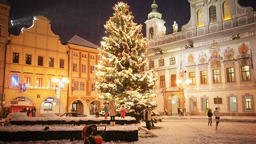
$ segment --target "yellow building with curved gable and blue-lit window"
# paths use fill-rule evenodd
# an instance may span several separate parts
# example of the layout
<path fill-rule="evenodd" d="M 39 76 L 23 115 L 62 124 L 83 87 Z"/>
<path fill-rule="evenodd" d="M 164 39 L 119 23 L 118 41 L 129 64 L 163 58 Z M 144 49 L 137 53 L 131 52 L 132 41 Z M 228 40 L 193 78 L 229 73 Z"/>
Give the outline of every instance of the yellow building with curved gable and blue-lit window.
<path fill-rule="evenodd" d="M 23 101 L 36 106 L 37 114 L 66 111 L 68 85 L 61 80 L 68 77 L 68 46 L 59 39 L 43 16 L 34 17 L 33 25 L 18 36 L 8 37 L 5 107 Z"/>

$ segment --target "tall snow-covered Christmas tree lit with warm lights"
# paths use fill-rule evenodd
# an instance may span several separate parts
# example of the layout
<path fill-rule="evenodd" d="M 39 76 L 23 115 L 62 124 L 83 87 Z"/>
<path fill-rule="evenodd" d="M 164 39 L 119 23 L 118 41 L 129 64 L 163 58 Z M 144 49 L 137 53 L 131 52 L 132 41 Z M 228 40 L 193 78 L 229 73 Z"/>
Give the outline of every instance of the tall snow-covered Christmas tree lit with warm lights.
<path fill-rule="evenodd" d="M 151 110 L 156 107 L 152 93 L 155 78 L 147 66 L 142 26 L 134 23 L 127 3 L 119 2 L 113 9 L 99 49 L 96 89 L 106 103 L 115 100 L 117 107 L 125 104 L 130 113 L 141 116 L 146 105 Z"/>

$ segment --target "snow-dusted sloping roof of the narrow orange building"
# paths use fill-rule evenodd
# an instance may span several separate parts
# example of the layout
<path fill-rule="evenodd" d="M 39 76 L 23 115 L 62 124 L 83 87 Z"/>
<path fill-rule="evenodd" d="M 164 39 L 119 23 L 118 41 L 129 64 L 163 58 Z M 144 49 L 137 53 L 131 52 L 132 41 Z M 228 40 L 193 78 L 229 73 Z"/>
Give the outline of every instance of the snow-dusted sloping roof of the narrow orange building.
<path fill-rule="evenodd" d="M 67 43 L 77 44 L 80 46 L 91 47 L 91 48 L 100 48 L 96 44 L 91 43 L 91 42 L 87 41 L 86 39 L 83 39 L 77 35 L 73 36 L 69 41 L 67 41 Z"/>

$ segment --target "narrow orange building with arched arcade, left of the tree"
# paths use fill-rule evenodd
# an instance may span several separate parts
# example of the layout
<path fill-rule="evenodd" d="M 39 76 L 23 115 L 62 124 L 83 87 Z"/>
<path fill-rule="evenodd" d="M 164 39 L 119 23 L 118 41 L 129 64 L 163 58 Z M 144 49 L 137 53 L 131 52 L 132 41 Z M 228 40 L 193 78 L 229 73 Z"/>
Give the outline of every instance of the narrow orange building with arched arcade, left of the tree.
<path fill-rule="evenodd" d="M 96 75 L 93 73 L 98 63 L 99 51 L 95 44 L 78 36 L 73 36 L 67 43 L 69 48 L 70 80 L 68 88 L 68 111 L 78 111 L 86 115 L 94 113 L 98 103 L 98 94 L 95 90 Z"/>

